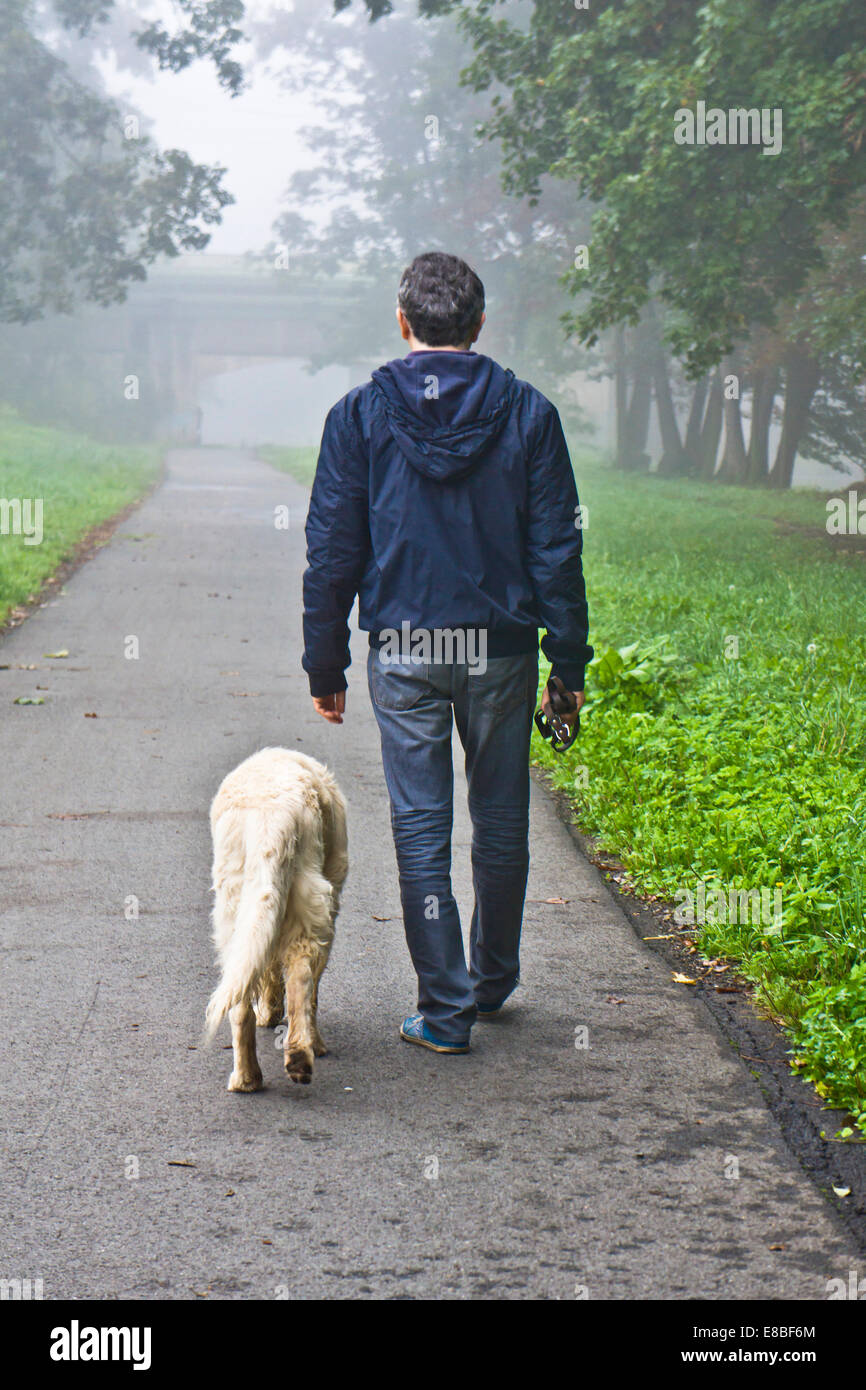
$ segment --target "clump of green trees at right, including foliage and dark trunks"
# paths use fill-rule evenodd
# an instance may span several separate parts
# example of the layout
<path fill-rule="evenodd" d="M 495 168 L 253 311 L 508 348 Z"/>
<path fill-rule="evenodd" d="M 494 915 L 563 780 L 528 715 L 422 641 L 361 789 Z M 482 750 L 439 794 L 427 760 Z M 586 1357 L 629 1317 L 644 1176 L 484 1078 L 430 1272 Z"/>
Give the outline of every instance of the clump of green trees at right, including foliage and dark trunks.
<path fill-rule="evenodd" d="M 822 439 L 844 455 L 866 410 L 856 379 L 865 261 L 851 247 L 866 183 L 860 0 L 594 0 L 581 10 L 534 0 L 523 24 L 499 0 L 420 8 L 459 11 L 477 54 L 464 81 L 489 93 L 485 129 L 502 142 L 506 188 L 534 197 L 553 175 L 596 204 L 589 263 L 569 277 L 580 302 L 571 329 L 592 345 L 616 328 L 617 370 L 628 370 L 623 325 L 641 322 L 648 306 L 653 313 L 657 297 L 664 336 L 696 379 L 685 439 L 659 343 L 649 367 L 637 364 L 631 402 L 617 382 L 623 466 L 645 457 L 630 435 L 645 418 L 648 373 L 664 473 L 713 475 L 724 420 L 719 480 L 788 485 L 802 441 L 815 446 L 810 403 L 824 375 L 834 399 L 845 382 L 838 439 L 820 398 Z M 731 113 L 735 139 L 755 143 L 727 143 L 724 121 L 726 143 L 681 143 L 699 101 Z M 710 385 L 723 360 L 738 392 L 723 393 L 717 377 Z M 777 399 L 783 430 L 770 464 Z"/>

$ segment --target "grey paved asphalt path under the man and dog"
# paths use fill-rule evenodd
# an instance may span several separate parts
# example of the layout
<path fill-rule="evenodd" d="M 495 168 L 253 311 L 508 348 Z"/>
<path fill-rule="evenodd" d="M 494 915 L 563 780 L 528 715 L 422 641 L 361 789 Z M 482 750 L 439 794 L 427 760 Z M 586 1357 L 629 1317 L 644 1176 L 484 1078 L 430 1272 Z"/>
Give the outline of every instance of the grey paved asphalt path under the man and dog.
<path fill-rule="evenodd" d="M 304 510 L 249 455 L 174 452 L 0 639 L 0 1277 L 46 1298 L 826 1298 L 849 1237 L 544 792 L 507 1016 L 468 1056 L 399 1041 L 413 974 L 366 638 L 331 728 L 300 671 Z M 13 705 L 36 687 L 44 705 Z M 335 770 L 352 867 L 321 990 L 332 1055 L 300 1088 L 260 1031 L 267 1088 L 231 1095 L 228 1026 L 197 1045 L 207 808 L 267 744 Z M 467 920 L 461 803 L 455 852 Z"/>

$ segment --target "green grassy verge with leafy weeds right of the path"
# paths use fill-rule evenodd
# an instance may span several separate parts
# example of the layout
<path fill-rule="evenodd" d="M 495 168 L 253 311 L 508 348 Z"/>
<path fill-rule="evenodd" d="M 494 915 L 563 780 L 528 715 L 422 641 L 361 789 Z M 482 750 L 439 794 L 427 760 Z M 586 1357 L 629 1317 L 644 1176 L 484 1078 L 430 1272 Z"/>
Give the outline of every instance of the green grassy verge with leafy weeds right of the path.
<path fill-rule="evenodd" d="M 596 656 L 580 742 L 535 759 L 866 1133 L 866 556 L 819 493 L 575 471 Z"/>

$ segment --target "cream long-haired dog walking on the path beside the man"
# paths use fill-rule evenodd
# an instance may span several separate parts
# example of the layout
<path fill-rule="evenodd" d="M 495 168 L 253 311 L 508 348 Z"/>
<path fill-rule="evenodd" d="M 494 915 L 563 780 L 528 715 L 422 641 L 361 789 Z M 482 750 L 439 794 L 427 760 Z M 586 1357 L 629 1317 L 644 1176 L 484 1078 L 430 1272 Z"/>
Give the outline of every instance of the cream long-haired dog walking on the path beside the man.
<path fill-rule="evenodd" d="M 285 1069 L 309 1084 L 313 1058 L 327 1051 L 316 1008 L 349 867 L 346 803 L 314 758 L 263 748 L 224 780 L 210 827 L 222 979 L 207 1005 L 206 1034 L 213 1037 L 229 1015 L 235 1065 L 228 1088 L 259 1091 L 256 1023 L 275 1027 L 285 1001 Z"/>

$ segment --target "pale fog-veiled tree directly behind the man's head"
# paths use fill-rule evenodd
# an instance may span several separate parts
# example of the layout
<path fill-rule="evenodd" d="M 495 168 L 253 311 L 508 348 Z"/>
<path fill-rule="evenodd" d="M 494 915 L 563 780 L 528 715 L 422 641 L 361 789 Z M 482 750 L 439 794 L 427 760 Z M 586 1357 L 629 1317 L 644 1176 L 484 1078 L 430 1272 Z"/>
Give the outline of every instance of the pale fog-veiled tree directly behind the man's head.
<path fill-rule="evenodd" d="M 531 368 L 562 399 L 587 353 L 564 341 L 557 281 L 588 236 L 589 211 L 553 179 L 535 206 L 503 193 L 498 152 L 475 132 L 488 103 L 460 83 L 471 49 L 456 24 L 407 14 L 334 21 L 310 3 L 253 25 L 252 36 L 261 53 L 289 49 L 284 81 L 316 90 L 321 106 L 321 124 L 302 132 L 317 163 L 291 179 L 275 235 L 299 274 L 356 275 L 354 310 L 329 359 L 393 345 L 382 285 L 396 292 L 421 250 L 459 250 L 488 291 L 482 350 Z"/>

